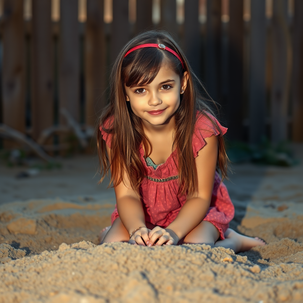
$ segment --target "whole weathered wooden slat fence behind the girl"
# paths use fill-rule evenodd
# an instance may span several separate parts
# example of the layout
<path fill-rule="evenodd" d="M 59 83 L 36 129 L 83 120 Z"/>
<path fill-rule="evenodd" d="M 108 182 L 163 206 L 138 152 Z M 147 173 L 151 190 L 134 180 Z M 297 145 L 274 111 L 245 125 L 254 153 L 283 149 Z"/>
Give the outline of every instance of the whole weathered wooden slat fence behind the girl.
<path fill-rule="evenodd" d="M 267 136 L 273 142 L 303 141 L 301 0 L 2 0 L 0 4 L 0 122 L 2 128 L 27 134 L 46 150 L 64 148 L 53 142 L 52 135 L 69 129 L 85 146 L 106 103 L 111 63 L 129 38 L 146 28 L 173 33 L 222 106 L 231 140 L 257 143 Z M 27 18 L 25 4 L 30 11 Z M 112 15 L 106 15 L 111 5 Z"/>

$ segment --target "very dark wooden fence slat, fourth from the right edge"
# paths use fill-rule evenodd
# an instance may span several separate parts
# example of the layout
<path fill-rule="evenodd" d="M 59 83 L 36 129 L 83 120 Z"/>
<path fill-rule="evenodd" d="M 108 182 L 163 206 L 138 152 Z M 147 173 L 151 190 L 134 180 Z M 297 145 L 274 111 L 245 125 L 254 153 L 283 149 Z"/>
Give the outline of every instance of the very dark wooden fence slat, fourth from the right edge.
<path fill-rule="evenodd" d="M 228 138 L 241 140 L 243 120 L 243 0 L 229 0 L 228 104 L 225 108 Z"/>

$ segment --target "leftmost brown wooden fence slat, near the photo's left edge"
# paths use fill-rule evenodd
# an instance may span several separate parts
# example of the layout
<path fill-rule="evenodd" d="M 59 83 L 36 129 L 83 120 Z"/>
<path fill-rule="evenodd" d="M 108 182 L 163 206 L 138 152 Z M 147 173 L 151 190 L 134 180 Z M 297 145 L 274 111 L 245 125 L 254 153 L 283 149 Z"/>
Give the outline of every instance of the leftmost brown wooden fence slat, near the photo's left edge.
<path fill-rule="evenodd" d="M 5 0 L 3 26 L 3 123 L 25 132 L 23 0 Z"/>

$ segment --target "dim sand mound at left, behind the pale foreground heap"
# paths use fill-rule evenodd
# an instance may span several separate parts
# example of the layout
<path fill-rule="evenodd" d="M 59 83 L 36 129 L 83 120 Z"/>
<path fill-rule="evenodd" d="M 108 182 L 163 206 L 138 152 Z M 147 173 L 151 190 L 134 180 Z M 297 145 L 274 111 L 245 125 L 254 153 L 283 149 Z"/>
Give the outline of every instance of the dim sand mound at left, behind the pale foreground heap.
<path fill-rule="evenodd" d="M 62 242 L 85 239 L 98 244 L 100 229 L 110 225 L 113 209 L 108 203 L 71 203 L 58 198 L 4 204 L 0 207 L 0 243 L 22 248 L 27 255 L 57 249 Z"/>

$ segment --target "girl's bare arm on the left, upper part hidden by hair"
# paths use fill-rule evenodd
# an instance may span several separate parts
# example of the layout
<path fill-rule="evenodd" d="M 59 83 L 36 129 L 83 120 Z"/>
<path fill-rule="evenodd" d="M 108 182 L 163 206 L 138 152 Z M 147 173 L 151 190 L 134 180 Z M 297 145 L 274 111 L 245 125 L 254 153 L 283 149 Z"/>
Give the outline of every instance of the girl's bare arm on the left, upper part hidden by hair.
<path fill-rule="evenodd" d="M 109 159 L 109 163 L 111 163 L 111 150 L 106 145 L 106 151 Z M 131 186 L 129 185 L 129 179 L 126 173 L 123 176 L 124 183 L 115 186 L 115 195 L 117 202 L 117 209 L 119 213 L 119 217 L 129 234 L 131 234 L 135 229 L 139 227 L 145 226 L 145 215 L 142 207 L 142 202 L 138 198 L 138 195 L 133 191 Z M 148 232 L 146 233 L 146 237 L 142 238 L 145 241 L 148 241 Z M 145 239 L 146 238 L 146 239 Z M 139 244 L 139 243 L 138 243 Z"/>

